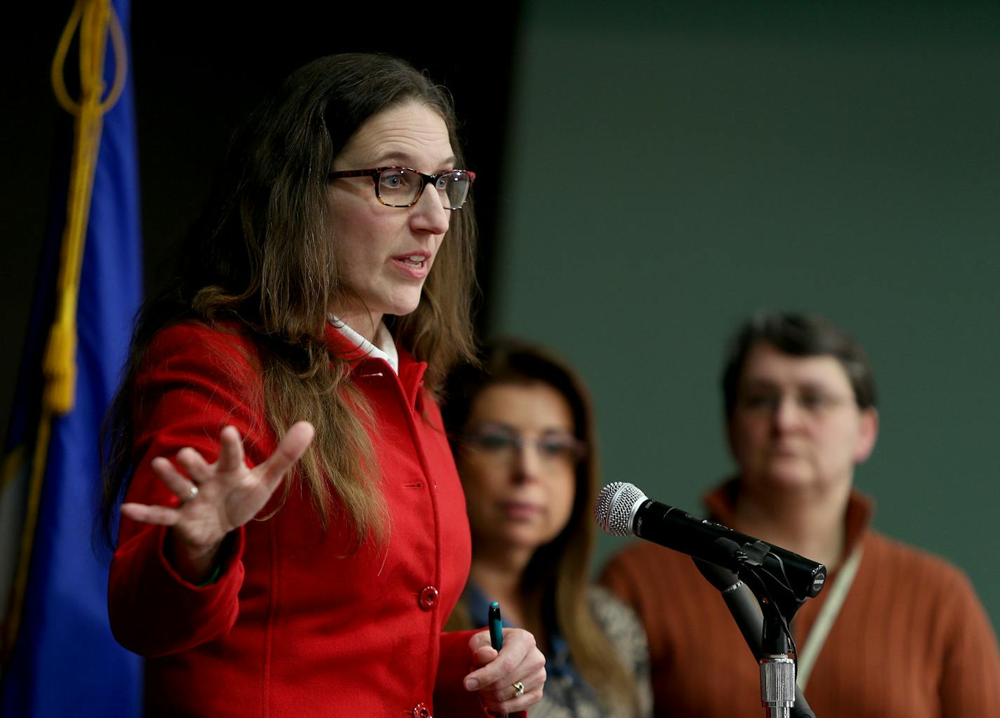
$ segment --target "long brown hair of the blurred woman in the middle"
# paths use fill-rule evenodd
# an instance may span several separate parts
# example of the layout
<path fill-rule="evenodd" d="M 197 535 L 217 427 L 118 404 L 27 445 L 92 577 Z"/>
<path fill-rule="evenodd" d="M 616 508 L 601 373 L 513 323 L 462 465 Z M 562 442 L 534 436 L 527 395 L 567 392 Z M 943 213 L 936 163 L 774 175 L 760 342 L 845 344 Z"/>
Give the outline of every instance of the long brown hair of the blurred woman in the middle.
<path fill-rule="evenodd" d="M 597 691 L 605 705 L 624 703 L 635 708 L 635 682 L 616 659 L 616 652 L 594 620 L 588 603 L 589 564 L 595 523 L 591 507 L 597 496 L 599 462 L 597 432 L 590 393 L 583 380 L 564 361 L 540 347 L 503 338 L 485 345 L 478 364 L 456 367 L 445 386 L 442 407 L 445 428 L 458 437 L 466 429 L 480 392 L 496 384 L 541 382 L 558 391 L 573 414 L 576 438 L 586 453 L 576 467 L 573 509 L 565 528 L 539 547 L 525 568 L 521 589 L 542 597 L 542 622 L 565 638 L 574 667 Z M 460 442 L 453 442 L 461 451 Z M 473 546 L 475 552 L 475 546 Z M 460 601 L 448 628 L 472 628 Z"/>

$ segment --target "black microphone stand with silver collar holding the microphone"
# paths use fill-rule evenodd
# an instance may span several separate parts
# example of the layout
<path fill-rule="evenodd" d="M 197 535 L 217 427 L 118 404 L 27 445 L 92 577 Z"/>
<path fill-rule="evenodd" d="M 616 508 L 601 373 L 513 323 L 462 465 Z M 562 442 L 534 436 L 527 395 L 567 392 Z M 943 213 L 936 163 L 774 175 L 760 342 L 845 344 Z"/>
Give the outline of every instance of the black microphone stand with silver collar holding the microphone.
<path fill-rule="evenodd" d="M 767 718 L 816 718 L 795 683 L 795 653 L 789 647 L 794 641 L 788 624 L 806 596 L 796 593 L 787 580 L 782 580 L 780 559 L 775 561 L 764 542 L 732 548 L 725 546 L 726 543 L 731 542 L 720 541 L 723 544 L 720 548 L 732 559 L 727 563 L 736 564 L 737 573 L 701 559 L 694 562 L 709 583 L 722 592 L 726 606 L 757 659 L 761 704 Z"/>

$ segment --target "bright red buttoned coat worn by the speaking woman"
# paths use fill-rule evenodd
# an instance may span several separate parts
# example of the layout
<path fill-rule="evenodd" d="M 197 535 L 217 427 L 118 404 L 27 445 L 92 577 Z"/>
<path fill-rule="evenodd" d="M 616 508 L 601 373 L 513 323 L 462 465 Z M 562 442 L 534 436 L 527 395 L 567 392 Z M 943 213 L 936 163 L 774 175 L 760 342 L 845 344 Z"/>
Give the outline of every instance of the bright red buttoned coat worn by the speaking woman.
<path fill-rule="evenodd" d="M 354 349 L 332 328 L 327 341 L 340 355 Z M 296 483 L 273 516 L 265 518 L 269 506 L 233 533 L 221 577 L 199 588 L 164 555 L 165 529 L 123 520 L 109 612 L 118 641 L 148 658 L 148 714 L 422 716 L 434 714 L 437 689 L 449 702 L 438 718 L 449 709 L 482 715 L 461 686 L 470 634 L 441 631 L 471 548 L 440 412 L 422 389 L 426 364 L 400 349 L 397 376 L 358 354 L 351 380 L 375 414 L 386 545 L 351 553 L 350 531 L 335 517 L 322 530 Z M 251 465 L 276 445 L 254 343 L 201 324 L 155 337 L 136 382 L 134 421 L 128 501 L 176 504 L 151 459 L 192 446 L 214 461 L 227 424 L 244 437 Z"/>

